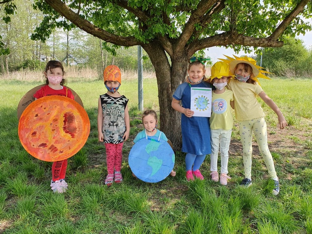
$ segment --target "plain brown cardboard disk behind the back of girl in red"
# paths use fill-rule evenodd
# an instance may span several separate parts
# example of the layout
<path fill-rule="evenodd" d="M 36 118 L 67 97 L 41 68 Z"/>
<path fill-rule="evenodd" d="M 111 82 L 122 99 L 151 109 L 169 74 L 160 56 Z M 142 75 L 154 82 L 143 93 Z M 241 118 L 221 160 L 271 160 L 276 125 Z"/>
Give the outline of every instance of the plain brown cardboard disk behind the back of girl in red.
<path fill-rule="evenodd" d="M 34 94 L 37 92 L 37 90 L 39 90 L 43 86 L 46 86 L 46 84 L 36 86 L 35 88 L 29 90 L 22 97 L 22 99 L 20 100 L 20 102 L 17 105 L 17 119 L 20 119 L 25 108 L 35 100 Z M 75 97 L 75 101 L 78 102 L 83 107 L 83 103 L 82 103 L 82 100 L 80 99 L 79 95 L 74 90 L 72 90 L 71 88 L 69 88 L 67 86 L 64 86 L 64 87 L 71 90 L 71 92 L 73 93 L 73 95 Z"/>

